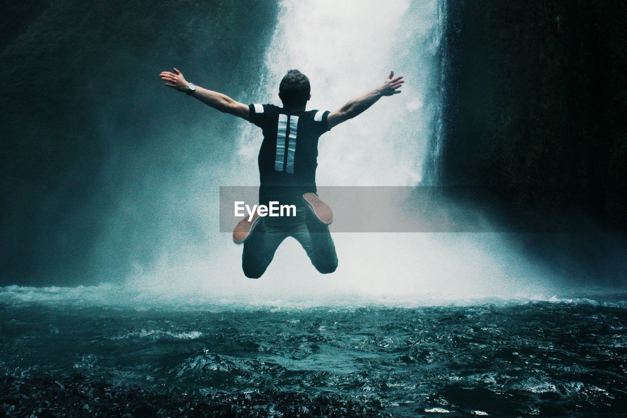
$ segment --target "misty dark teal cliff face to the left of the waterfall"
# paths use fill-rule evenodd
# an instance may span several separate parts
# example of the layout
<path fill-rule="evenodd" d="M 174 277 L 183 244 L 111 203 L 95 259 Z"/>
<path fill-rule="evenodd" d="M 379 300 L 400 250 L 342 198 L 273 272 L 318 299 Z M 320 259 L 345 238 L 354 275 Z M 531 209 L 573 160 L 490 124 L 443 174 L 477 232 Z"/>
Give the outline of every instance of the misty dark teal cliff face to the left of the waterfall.
<path fill-rule="evenodd" d="M 133 259 L 155 257 L 151 243 L 167 241 L 154 228 L 159 190 L 181 190 L 186 167 L 235 141 L 218 112 L 164 87 L 159 72 L 176 66 L 250 99 L 277 4 L 32 0 L 4 9 L 0 284 L 123 277 Z M 220 141 L 210 138 L 216 127 Z"/>

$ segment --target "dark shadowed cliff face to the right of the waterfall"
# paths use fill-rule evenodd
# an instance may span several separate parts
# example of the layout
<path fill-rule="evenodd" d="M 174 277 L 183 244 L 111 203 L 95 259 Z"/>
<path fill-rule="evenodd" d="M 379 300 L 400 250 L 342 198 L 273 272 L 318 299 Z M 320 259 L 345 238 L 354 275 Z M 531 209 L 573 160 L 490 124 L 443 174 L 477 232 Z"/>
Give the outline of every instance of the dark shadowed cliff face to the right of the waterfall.
<path fill-rule="evenodd" d="M 627 3 L 451 0 L 446 185 L 627 227 Z"/>

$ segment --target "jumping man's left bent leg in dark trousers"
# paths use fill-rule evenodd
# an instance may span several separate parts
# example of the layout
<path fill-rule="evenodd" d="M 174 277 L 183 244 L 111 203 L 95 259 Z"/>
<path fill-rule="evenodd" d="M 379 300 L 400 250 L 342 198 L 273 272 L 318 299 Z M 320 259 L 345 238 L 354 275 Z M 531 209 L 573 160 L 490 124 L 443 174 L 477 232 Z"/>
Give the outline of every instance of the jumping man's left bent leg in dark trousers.
<path fill-rule="evenodd" d="M 244 242 L 241 268 L 249 279 L 258 279 L 265 273 L 278 246 L 287 237 L 281 232 L 267 232 L 263 223 L 257 225 Z"/>

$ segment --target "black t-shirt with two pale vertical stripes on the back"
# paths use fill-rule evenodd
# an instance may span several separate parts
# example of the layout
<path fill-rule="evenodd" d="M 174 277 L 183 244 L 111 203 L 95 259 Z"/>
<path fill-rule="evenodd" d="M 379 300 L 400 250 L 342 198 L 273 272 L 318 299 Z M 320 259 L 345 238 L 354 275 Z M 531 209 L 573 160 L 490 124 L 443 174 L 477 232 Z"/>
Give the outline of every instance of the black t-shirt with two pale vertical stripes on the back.
<path fill-rule="evenodd" d="M 251 123 L 263 130 L 257 159 L 259 201 L 300 205 L 303 193 L 315 193 L 318 139 L 329 131 L 329 110 L 291 111 L 271 104 L 251 104 Z"/>

